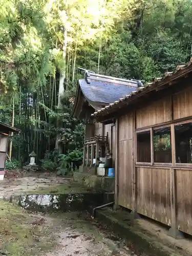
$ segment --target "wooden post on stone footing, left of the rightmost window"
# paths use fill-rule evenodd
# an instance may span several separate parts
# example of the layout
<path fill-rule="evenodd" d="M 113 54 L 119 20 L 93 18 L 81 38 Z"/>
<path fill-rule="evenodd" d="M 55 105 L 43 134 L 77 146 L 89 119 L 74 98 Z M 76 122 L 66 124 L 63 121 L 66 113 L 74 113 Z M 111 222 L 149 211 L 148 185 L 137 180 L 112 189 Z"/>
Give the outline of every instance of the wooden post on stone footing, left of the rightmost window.
<path fill-rule="evenodd" d="M 170 125 L 171 145 L 172 145 L 172 165 L 170 168 L 170 211 L 171 211 L 171 228 L 169 229 L 169 235 L 174 238 L 183 238 L 182 233 L 178 230 L 177 221 L 177 191 L 176 191 L 176 169 L 174 168 L 176 163 L 175 152 L 175 129 L 174 124 Z"/>

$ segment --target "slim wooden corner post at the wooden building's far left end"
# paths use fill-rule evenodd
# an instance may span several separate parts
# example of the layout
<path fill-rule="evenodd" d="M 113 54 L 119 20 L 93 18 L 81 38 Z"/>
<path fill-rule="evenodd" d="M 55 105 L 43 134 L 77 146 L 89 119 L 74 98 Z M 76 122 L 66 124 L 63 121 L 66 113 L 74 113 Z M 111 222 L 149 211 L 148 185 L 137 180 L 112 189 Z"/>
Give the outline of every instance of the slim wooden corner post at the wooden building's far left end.
<path fill-rule="evenodd" d="M 115 123 L 115 209 L 118 207 L 118 146 L 119 146 L 119 125 L 118 125 L 118 119 L 116 119 Z"/>

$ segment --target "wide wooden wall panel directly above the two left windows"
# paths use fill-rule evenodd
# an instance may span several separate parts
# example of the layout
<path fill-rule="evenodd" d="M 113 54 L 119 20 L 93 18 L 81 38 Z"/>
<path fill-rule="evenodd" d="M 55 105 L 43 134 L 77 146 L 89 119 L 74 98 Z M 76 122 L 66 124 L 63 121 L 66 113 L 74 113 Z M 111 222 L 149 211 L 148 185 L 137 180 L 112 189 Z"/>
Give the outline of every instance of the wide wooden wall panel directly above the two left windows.
<path fill-rule="evenodd" d="M 163 123 L 172 119 L 172 100 L 166 97 L 142 106 L 136 111 L 136 129 Z"/>

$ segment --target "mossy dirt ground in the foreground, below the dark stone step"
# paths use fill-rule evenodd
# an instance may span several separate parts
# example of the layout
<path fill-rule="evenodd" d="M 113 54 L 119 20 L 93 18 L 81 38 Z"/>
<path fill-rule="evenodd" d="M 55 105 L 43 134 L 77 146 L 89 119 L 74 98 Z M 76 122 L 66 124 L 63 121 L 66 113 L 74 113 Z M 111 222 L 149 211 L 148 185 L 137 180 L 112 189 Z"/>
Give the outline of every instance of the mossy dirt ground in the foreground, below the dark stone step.
<path fill-rule="evenodd" d="M 43 214 L 0 200 L 0 255 L 138 256 L 82 212 Z"/>

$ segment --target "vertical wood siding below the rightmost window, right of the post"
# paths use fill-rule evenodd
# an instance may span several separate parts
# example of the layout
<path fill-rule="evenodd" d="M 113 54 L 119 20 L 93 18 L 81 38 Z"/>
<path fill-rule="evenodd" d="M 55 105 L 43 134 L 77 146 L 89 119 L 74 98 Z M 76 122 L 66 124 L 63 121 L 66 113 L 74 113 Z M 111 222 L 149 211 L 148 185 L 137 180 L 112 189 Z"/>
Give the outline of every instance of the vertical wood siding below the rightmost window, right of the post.
<path fill-rule="evenodd" d="M 192 234 L 192 170 L 176 170 L 178 229 Z"/>

